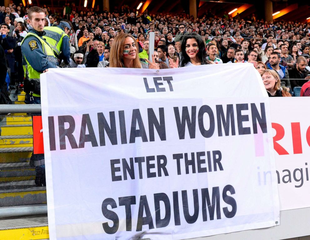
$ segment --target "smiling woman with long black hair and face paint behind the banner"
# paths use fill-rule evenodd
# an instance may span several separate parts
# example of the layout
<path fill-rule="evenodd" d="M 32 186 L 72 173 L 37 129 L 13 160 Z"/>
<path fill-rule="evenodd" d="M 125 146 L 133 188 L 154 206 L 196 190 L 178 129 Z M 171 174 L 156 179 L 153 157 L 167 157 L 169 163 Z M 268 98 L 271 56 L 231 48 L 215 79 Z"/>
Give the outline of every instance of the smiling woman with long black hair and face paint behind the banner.
<path fill-rule="evenodd" d="M 181 45 L 180 67 L 211 64 L 207 60 L 206 46 L 201 36 L 192 32 L 184 37 Z"/>

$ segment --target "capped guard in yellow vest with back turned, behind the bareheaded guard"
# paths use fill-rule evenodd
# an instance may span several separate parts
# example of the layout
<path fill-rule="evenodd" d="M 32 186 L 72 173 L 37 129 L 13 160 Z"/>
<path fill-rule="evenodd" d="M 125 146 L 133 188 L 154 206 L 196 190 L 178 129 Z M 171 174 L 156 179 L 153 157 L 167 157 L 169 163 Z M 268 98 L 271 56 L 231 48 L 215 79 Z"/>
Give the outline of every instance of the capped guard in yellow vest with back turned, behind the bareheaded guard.
<path fill-rule="evenodd" d="M 68 36 L 71 27 L 68 22 L 61 21 L 56 27 L 44 27 L 46 33 L 43 38 L 53 48 L 55 56 L 59 58 L 59 63 L 63 60 L 70 63 L 70 38 Z"/>

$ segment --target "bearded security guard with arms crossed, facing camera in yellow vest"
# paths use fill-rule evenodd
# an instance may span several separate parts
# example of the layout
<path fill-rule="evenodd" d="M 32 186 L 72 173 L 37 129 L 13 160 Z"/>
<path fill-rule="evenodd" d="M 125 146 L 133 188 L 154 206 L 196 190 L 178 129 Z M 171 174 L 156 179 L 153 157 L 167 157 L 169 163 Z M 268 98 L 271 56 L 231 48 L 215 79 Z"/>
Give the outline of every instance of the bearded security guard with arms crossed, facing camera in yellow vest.
<path fill-rule="evenodd" d="M 25 103 L 40 104 L 40 74 L 48 68 L 57 68 L 57 58 L 52 47 L 42 38 L 45 23 L 45 13 L 42 8 L 31 7 L 28 10 L 27 20 L 30 24 L 29 32 L 21 44 L 24 69 Z M 35 183 L 37 186 L 46 186 L 44 154 L 33 154 L 30 166 L 36 169 Z"/>

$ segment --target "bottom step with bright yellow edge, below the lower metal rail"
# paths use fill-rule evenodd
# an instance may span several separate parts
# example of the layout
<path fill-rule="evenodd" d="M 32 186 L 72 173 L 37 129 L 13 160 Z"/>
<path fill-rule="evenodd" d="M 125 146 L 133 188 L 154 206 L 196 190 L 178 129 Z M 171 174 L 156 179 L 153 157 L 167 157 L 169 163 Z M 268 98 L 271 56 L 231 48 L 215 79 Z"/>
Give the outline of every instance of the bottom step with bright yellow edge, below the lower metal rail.
<path fill-rule="evenodd" d="M 1 240 L 48 239 L 47 214 L 0 219 Z"/>

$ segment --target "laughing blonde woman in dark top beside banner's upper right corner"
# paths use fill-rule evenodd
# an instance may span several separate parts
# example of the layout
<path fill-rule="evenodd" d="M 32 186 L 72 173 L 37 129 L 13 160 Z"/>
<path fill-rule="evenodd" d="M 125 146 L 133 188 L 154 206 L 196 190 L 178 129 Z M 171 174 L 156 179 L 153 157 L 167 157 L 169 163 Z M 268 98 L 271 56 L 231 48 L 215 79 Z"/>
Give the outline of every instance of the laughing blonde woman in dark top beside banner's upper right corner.
<path fill-rule="evenodd" d="M 292 97 L 287 88 L 281 87 L 281 80 L 275 70 L 266 69 L 261 73 L 269 97 Z"/>

